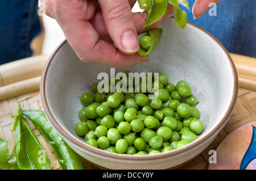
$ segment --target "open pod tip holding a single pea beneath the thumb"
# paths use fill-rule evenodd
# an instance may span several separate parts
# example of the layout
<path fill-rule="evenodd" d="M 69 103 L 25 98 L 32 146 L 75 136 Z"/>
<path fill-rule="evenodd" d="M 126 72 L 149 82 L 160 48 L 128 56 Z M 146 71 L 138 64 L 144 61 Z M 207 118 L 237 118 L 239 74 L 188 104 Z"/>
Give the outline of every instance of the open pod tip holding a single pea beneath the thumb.
<path fill-rule="evenodd" d="M 138 53 L 141 56 L 146 56 L 148 53 L 154 51 L 160 43 L 162 32 L 162 28 L 155 28 L 144 33 L 139 40 L 139 45 L 141 48 L 138 50 Z"/>

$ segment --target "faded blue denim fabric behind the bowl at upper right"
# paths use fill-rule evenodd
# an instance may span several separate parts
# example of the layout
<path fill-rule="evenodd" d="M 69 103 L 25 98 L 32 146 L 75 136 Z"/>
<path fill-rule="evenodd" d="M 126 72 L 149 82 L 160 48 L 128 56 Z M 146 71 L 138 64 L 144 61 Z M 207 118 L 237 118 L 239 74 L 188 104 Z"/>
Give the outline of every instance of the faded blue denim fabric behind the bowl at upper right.
<path fill-rule="evenodd" d="M 204 1 L 204 0 L 199 0 Z M 195 0 L 188 0 L 192 11 Z M 256 57 L 256 1 L 255 0 L 221 0 L 216 4 L 216 16 L 210 16 L 213 9 L 193 19 L 192 12 L 184 7 L 188 21 L 204 28 L 230 53 Z"/>

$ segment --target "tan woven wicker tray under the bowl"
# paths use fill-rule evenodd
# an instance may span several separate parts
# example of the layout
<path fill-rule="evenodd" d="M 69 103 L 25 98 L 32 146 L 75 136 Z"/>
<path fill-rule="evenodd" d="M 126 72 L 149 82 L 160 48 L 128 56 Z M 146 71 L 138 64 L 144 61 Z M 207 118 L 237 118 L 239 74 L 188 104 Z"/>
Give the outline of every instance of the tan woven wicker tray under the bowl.
<path fill-rule="evenodd" d="M 236 64 L 240 84 L 232 116 L 207 149 L 191 161 L 174 169 L 208 169 L 209 150 L 215 150 L 221 141 L 235 129 L 256 120 L 256 60 L 237 54 L 230 55 Z M 48 57 L 48 55 L 36 56 L 0 66 L 0 137 L 9 141 L 10 150 L 14 147 L 14 132 L 12 131 L 14 119 L 11 119 L 10 115 L 16 115 L 18 103 L 22 104 L 23 109 L 43 110 L 39 95 L 39 82 Z M 25 72 L 19 71 L 20 66 L 31 69 L 26 69 Z M 52 163 L 52 169 L 60 169 L 55 154 L 42 134 L 30 121 L 27 120 L 27 123 L 46 150 Z M 98 169 L 85 159 L 82 161 L 85 169 Z"/>

